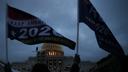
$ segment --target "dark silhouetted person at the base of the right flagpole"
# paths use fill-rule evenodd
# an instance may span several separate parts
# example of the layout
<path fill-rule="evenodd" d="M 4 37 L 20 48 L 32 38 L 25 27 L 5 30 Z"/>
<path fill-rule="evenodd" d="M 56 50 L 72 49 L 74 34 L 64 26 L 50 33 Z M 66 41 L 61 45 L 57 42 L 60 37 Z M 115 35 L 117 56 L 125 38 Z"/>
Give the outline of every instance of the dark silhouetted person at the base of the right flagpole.
<path fill-rule="evenodd" d="M 80 63 L 80 57 L 79 55 L 76 54 L 70 72 L 79 72 L 80 71 L 79 63 Z"/>

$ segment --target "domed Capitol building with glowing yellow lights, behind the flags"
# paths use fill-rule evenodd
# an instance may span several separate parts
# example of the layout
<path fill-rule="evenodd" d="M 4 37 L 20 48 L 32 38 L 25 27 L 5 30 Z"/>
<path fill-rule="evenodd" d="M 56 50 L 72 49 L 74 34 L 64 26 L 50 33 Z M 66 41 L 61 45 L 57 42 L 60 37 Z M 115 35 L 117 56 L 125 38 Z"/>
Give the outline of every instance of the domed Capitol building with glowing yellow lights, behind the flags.
<path fill-rule="evenodd" d="M 61 45 L 45 43 L 40 49 L 37 49 L 37 55 L 35 57 L 29 57 L 24 62 L 14 62 L 12 63 L 12 68 L 20 72 L 31 72 L 32 67 L 36 63 L 48 65 L 51 72 L 69 72 L 73 64 L 73 57 L 64 56 Z M 80 63 L 80 72 L 88 72 L 94 65 L 94 63 L 82 61 Z"/>

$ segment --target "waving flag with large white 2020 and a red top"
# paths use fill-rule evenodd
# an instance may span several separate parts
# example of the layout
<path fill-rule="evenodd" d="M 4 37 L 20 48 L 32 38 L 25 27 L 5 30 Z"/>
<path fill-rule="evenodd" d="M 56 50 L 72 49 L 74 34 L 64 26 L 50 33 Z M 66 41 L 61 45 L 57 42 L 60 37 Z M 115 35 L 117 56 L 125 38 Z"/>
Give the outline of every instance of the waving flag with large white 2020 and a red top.
<path fill-rule="evenodd" d="M 57 43 L 75 48 L 75 42 L 57 33 L 39 18 L 8 6 L 8 37 L 24 44 Z"/>

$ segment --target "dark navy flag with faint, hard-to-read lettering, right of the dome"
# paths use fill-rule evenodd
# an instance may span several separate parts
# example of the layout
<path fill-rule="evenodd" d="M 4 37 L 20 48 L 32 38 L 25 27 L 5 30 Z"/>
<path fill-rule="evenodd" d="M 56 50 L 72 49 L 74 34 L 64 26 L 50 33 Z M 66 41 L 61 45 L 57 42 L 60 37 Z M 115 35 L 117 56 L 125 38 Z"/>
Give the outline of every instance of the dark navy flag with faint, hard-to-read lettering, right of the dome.
<path fill-rule="evenodd" d="M 86 23 L 96 34 L 99 47 L 116 56 L 124 52 L 89 0 L 79 0 L 79 22 Z"/>

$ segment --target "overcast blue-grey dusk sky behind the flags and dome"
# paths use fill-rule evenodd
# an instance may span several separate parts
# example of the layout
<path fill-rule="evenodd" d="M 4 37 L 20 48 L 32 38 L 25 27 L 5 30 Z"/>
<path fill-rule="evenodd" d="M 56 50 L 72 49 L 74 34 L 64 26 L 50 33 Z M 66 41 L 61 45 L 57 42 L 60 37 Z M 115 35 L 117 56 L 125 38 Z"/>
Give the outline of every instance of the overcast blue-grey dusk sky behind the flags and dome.
<path fill-rule="evenodd" d="M 128 54 L 128 1 L 91 0 L 110 30 Z M 76 42 L 77 0 L 8 0 L 8 4 L 39 17 L 58 33 Z M 0 0 L 0 60 L 5 61 L 5 0 Z M 82 60 L 98 61 L 108 53 L 98 47 L 94 32 L 80 23 L 79 54 Z M 10 61 L 24 61 L 35 56 L 38 45 L 25 45 L 8 39 Z M 75 51 L 63 46 L 65 55 Z"/>

